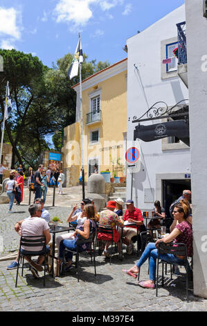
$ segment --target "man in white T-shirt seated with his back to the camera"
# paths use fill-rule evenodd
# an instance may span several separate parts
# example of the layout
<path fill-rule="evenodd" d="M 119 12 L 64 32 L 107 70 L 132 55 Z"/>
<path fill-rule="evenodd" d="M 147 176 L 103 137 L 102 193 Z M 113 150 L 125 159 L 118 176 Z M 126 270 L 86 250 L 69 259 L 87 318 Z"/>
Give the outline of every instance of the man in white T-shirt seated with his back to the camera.
<path fill-rule="evenodd" d="M 36 210 L 35 210 L 36 209 Z M 22 220 L 22 221 L 19 221 L 15 224 L 15 231 L 17 233 L 19 233 L 19 235 L 25 235 L 27 236 L 28 234 L 22 234 L 22 225 L 24 225 L 24 233 L 31 233 L 29 235 L 45 235 L 46 237 L 46 243 L 48 244 L 48 242 L 50 241 L 51 239 L 51 234 L 50 232 L 48 231 L 49 230 L 49 227 L 48 227 L 48 223 L 46 223 L 46 221 L 44 221 L 44 219 L 40 218 L 41 214 L 41 207 L 40 205 L 37 205 L 37 204 L 33 204 L 33 205 L 30 205 L 29 207 L 29 212 L 30 212 L 30 217 L 26 218 L 25 220 Z M 39 218 L 39 219 L 37 219 Z M 28 221 L 28 225 L 27 225 L 27 222 Z M 35 233 L 35 234 L 32 234 L 32 233 Z M 33 249 L 33 251 L 37 251 L 37 249 Z M 32 250 L 30 250 L 32 251 Z M 12 264 L 10 264 L 10 266 L 7 267 L 7 269 L 15 269 L 18 267 L 18 258 L 19 258 L 19 252 L 17 254 L 17 258 L 15 261 L 12 261 Z M 42 266 L 40 266 L 42 264 L 42 261 L 44 261 L 44 256 L 43 256 L 43 259 L 42 257 L 39 257 L 38 259 L 38 264 L 35 264 L 34 261 L 31 261 L 30 257 L 28 258 L 30 260 L 30 263 L 33 267 L 35 267 L 35 270 L 31 270 L 33 275 L 35 277 L 39 277 L 38 276 L 38 273 L 37 271 L 42 271 L 43 268 Z M 27 260 L 28 260 L 27 259 Z"/>

